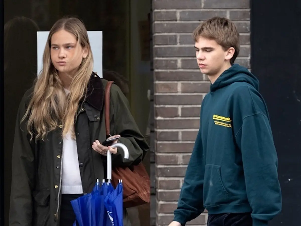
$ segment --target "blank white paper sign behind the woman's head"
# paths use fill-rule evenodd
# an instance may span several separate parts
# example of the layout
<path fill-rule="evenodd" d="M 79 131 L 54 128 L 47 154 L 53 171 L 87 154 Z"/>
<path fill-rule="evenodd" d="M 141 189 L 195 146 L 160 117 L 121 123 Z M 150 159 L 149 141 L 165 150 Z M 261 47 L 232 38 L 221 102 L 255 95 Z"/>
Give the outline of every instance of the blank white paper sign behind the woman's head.
<path fill-rule="evenodd" d="M 43 66 L 43 53 L 47 42 L 49 31 L 37 32 L 37 64 L 40 73 Z M 88 31 L 88 37 L 92 49 L 94 67 L 93 71 L 102 78 L 102 31 Z"/>

